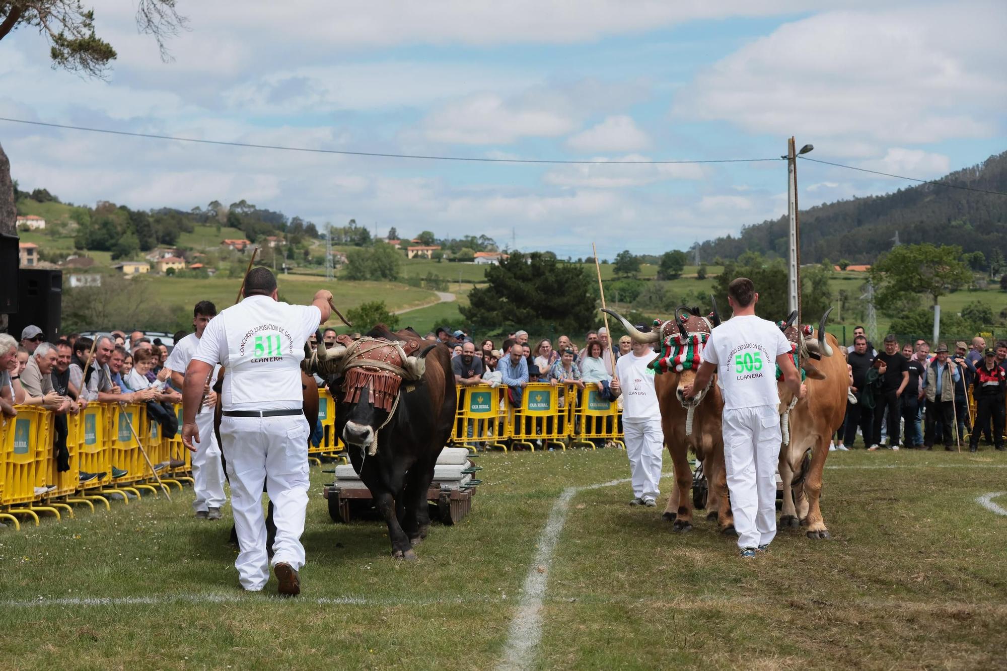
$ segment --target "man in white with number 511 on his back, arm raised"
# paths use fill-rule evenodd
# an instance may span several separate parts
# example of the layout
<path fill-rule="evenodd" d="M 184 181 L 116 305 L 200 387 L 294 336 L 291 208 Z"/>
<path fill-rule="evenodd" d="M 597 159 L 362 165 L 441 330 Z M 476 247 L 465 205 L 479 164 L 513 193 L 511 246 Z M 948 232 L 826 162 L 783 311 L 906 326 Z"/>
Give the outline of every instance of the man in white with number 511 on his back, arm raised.
<path fill-rule="evenodd" d="M 269 581 L 262 509 L 265 484 L 275 507 L 273 569 L 279 592 L 300 593 L 310 430 L 302 409 L 300 363 L 304 343 L 328 319 L 331 298 L 322 289 L 310 305 L 278 302 L 273 273 L 253 268 L 245 278 L 245 298 L 206 325 L 185 371 L 182 441 L 194 451 L 203 385 L 213 366 L 226 369 L 221 446 L 228 461 L 238 533 L 235 567 L 242 587 L 249 591 L 259 591 Z"/>

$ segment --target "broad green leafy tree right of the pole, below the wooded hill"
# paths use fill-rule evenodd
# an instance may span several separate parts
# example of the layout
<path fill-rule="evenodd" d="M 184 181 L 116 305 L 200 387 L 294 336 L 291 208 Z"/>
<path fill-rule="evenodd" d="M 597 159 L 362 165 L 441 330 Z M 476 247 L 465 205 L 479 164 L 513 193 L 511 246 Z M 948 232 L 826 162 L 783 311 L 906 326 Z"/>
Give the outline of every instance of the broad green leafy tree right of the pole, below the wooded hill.
<path fill-rule="evenodd" d="M 906 297 L 926 294 L 937 305 L 941 296 L 972 282 L 972 273 L 961 258 L 962 248 L 958 245 L 895 247 L 871 268 L 877 291 L 875 304 L 890 309 Z"/>

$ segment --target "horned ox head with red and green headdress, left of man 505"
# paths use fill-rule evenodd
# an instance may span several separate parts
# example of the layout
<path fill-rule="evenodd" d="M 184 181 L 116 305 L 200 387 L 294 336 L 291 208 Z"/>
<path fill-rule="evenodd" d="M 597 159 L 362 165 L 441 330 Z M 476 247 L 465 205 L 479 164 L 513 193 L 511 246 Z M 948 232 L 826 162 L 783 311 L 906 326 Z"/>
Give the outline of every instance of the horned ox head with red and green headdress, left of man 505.
<path fill-rule="evenodd" d="M 678 377 L 675 396 L 684 408 L 698 406 L 710 389 L 708 386 L 706 389 L 699 390 L 692 399 L 685 400 L 683 390 L 686 386 L 693 384 L 696 379 L 696 371 L 702 360 L 702 351 L 706 339 L 714 327 L 720 325 L 720 313 L 717 310 L 717 303 L 713 300 L 713 296 L 710 296 L 710 300 L 713 302 L 713 311 L 709 314 L 704 315 L 699 307 L 680 305 L 675 310 L 674 319 L 655 321 L 654 326 L 649 332 L 637 329 L 618 312 L 609 309 L 605 310 L 622 322 L 626 332 L 635 342 L 661 343 L 664 346 L 663 354 L 659 356 L 656 362 L 662 367 L 667 367 L 669 375 Z M 680 360 L 681 365 L 676 363 Z"/>

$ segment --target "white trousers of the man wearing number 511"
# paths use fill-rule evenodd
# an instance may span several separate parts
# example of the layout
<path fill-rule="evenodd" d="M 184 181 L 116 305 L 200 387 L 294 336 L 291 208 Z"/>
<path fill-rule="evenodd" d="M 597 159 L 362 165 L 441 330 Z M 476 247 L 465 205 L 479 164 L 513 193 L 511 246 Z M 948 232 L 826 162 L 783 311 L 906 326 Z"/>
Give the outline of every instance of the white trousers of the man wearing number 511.
<path fill-rule="evenodd" d="M 238 533 L 238 579 L 258 591 L 269 581 L 263 485 L 273 502 L 273 564 L 304 565 L 304 515 L 308 506 L 308 423 L 304 416 L 224 417 L 221 440 L 231 479 L 231 509 Z"/>

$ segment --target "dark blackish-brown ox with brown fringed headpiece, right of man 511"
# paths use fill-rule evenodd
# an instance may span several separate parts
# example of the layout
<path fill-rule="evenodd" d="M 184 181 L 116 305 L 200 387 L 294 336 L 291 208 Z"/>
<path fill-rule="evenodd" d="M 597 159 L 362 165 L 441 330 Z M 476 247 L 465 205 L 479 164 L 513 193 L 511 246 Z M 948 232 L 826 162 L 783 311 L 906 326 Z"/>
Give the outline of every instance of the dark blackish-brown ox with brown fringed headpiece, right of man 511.
<path fill-rule="evenodd" d="M 327 350 L 319 341 L 312 362 L 335 399 L 336 435 L 388 524 L 392 555 L 405 559 L 416 559 L 413 546 L 427 535 L 434 465 L 454 425 L 451 355 L 421 344 L 411 328 L 380 324 Z"/>

